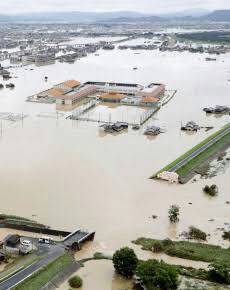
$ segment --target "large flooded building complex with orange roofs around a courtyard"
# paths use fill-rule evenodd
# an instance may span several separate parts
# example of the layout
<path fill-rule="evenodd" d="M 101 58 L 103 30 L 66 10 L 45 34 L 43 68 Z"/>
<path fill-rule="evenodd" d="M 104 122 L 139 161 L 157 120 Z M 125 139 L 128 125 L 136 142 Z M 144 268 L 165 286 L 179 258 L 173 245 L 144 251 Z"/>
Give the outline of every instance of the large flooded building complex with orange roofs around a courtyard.
<path fill-rule="evenodd" d="M 51 89 L 38 93 L 35 98 L 57 105 L 74 105 L 84 98 L 92 97 L 102 102 L 122 103 L 135 106 L 160 106 L 165 85 L 152 83 L 143 86 L 135 83 L 86 82 L 67 80 Z M 30 98 L 28 98 L 30 100 Z M 33 100 L 32 100 L 33 101 Z"/>

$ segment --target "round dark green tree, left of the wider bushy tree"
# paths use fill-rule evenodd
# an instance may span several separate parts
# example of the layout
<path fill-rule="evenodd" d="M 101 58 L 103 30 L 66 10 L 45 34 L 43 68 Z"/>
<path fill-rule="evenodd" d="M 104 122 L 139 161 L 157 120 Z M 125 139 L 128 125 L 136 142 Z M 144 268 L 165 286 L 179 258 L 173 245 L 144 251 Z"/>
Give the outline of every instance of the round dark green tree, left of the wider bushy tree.
<path fill-rule="evenodd" d="M 113 266 L 116 272 L 127 278 L 133 276 L 137 263 L 138 259 L 135 252 L 128 247 L 116 251 L 113 255 Z"/>

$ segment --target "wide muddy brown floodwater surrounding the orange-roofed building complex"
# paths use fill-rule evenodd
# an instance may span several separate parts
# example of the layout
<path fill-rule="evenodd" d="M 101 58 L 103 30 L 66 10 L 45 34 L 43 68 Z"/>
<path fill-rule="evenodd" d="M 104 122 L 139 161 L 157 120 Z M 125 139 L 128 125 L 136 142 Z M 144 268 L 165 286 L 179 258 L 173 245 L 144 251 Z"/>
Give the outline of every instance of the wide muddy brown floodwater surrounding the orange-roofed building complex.
<path fill-rule="evenodd" d="M 29 116 L 23 122 L 2 123 L 0 211 L 28 218 L 36 215 L 39 222 L 63 230 L 95 230 L 91 247 L 103 252 L 112 253 L 140 236 L 176 239 L 190 225 L 210 233 L 210 243 L 226 245 L 217 228 L 229 227 L 229 170 L 212 180 L 186 185 L 149 176 L 214 131 L 186 134 L 180 131 L 181 123 L 194 120 L 217 130 L 229 122 L 229 116 L 206 116 L 202 111 L 206 106 L 230 105 L 229 55 L 206 62 L 205 54 L 188 52 L 135 54 L 116 49 L 99 54 L 73 65 L 11 69 L 18 77 L 10 80 L 16 87 L 0 91 L 0 111 Z M 138 70 L 133 71 L 134 66 Z M 143 130 L 129 128 L 120 135 L 102 135 L 97 123 L 41 117 L 54 113 L 54 104 L 25 102 L 27 96 L 71 78 L 163 82 L 168 89 L 177 89 L 149 122 L 166 132 L 148 138 Z M 214 198 L 202 193 L 202 187 L 212 183 L 219 187 Z M 171 204 L 180 206 L 180 222 L 174 226 L 168 222 Z"/>

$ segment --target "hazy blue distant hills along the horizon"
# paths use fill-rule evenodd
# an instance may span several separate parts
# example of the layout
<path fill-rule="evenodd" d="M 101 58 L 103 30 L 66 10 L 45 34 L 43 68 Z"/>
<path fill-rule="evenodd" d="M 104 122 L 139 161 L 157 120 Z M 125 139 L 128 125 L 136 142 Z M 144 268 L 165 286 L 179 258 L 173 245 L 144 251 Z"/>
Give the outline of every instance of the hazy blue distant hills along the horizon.
<path fill-rule="evenodd" d="M 44 12 L 26 14 L 0 14 L 1 22 L 74 22 L 74 23 L 129 23 L 162 21 L 215 21 L 230 22 L 230 10 L 208 13 L 204 9 L 192 9 L 171 14 L 151 15 L 133 11 L 116 12 Z"/>

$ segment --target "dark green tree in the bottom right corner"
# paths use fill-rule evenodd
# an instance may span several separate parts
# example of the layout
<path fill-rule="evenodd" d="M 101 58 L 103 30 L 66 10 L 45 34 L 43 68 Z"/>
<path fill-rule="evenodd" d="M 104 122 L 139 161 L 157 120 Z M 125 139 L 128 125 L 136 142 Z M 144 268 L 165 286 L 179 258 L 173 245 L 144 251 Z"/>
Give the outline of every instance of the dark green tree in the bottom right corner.
<path fill-rule="evenodd" d="M 230 284 L 230 263 L 214 263 L 209 265 L 208 276 L 214 282 Z"/>

